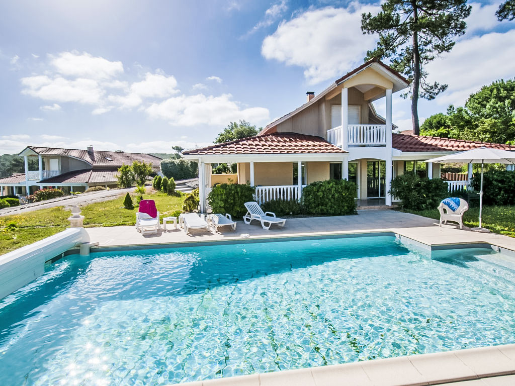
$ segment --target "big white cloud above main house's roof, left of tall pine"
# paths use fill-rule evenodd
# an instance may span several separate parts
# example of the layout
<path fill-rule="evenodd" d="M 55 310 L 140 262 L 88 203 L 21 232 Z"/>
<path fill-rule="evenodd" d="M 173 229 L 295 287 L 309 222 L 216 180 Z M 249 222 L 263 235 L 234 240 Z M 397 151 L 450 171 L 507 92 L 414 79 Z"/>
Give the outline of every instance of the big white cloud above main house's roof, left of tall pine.
<path fill-rule="evenodd" d="M 361 32 L 361 14 L 379 10 L 357 2 L 348 8 L 308 10 L 267 36 L 261 54 L 304 67 L 304 77 L 311 84 L 341 76 L 362 63 L 367 49 L 374 47 L 376 38 Z"/>

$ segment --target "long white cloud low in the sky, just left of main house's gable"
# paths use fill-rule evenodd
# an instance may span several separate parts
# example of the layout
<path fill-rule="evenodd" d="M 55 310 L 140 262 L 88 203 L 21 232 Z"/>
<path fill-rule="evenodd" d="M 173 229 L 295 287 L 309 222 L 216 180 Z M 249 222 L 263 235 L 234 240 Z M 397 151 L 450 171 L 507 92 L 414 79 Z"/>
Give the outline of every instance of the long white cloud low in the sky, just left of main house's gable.
<path fill-rule="evenodd" d="M 261 124 L 268 120 L 268 109 L 261 107 L 241 109 L 230 94 L 220 96 L 181 95 L 146 109 L 152 118 L 167 120 L 174 126 L 225 126 L 230 121 L 245 119 Z"/>

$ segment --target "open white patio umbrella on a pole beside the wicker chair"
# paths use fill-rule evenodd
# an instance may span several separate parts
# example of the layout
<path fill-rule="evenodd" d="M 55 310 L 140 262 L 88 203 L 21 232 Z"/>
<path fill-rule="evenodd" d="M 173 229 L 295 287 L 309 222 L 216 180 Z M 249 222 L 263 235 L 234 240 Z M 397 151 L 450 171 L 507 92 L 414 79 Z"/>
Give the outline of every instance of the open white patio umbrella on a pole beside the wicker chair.
<path fill-rule="evenodd" d="M 472 228 L 476 232 L 490 232 L 483 228 L 483 165 L 484 164 L 515 164 L 515 152 L 499 149 L 491 149 L 485 146 L 477 149 L 461 151 L 459 153 L 444 155 L 442 157 L 427 160 L 426 162 L 434 162 L 443 164 L 445 162 L 481 164 L 481 188 L 479 190 L 479 227 Z"/>

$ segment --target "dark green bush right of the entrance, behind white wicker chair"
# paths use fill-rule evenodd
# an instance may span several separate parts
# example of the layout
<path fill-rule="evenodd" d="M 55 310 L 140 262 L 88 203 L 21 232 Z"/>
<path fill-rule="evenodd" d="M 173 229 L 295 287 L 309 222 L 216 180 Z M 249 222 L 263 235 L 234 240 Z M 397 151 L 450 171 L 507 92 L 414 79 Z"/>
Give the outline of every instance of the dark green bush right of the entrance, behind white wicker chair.
<path fill-rule="evenodd" d="M 406 209 L 436 209 L 441 200 L 449 197 L 449 187 L 439 178 L 430 180 L 406 172 L 391 181 L 390 194 L 401 200 Z"/>

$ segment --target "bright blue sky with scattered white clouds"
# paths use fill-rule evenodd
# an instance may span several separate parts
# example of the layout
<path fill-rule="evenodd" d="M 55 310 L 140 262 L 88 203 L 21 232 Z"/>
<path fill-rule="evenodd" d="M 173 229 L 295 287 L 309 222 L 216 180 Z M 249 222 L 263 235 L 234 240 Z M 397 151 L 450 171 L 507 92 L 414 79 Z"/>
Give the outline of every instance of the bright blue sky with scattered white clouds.
<path fill-rule="evenodd" d="M 462 106 L 515 76 L 515 22 L 469 3 L 467 32 L 427 65 L 449 84 L 419 116 Z M 258 127 L 363 63 L 378 2 L 0 0 L 0 154 L 28 145 L 172 152 L 207 146 L 231 121 Z M 411 128 L 409 99 L 393 123 Z M 384 99 L 374 102 L 384 114 Z"/>

